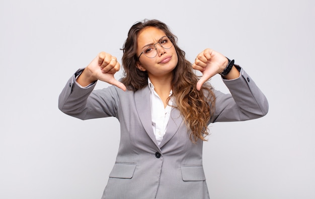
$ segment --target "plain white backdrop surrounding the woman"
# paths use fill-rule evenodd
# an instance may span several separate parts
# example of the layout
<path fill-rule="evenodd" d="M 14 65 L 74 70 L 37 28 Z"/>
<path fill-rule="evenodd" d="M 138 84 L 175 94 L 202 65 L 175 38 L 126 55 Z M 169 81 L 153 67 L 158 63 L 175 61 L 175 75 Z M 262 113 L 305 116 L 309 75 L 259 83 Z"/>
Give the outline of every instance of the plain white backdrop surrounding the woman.
<path fill-rule="evenodd" d="M 100 51 L 121 60 L 129 28 L 145 18 L 168 24 L 190 61 L 205 48 L 235 59 L 269 100 L 263 118 L 211 124 L 210 197 L 314 199 L 312 0 L 2 0 L 0 198 L 101 198 L 118 121 L 67 116 L 58 95 Z M 220 77 L 211 83 L 228 92 Z"/>

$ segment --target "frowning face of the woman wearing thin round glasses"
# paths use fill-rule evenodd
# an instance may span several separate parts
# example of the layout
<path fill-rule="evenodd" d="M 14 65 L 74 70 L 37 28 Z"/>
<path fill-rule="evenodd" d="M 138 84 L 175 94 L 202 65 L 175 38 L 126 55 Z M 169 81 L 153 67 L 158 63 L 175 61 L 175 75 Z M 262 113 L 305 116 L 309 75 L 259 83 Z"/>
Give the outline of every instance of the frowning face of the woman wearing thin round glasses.
<path fill-rule="evenodd" d="M 165 49 L 158 43 L 164 36 L 167 36 L 164 31 L 155 27 L 144 28 L 138 35 L 137 56 L 140 57 L 136 66 L 141 71 L 147 71 L 150 79 L 154 77 L 172 76 L 172 71 L 178 63 L 174 45 L 169 49 Z M 153 58 L 146 57 L 142 52 L 147 50 L 148 45 L 154 44 L 157 55 Z M 152 50 L 155 51 L 154 49 L 151 49 L 151 51 Z"/>

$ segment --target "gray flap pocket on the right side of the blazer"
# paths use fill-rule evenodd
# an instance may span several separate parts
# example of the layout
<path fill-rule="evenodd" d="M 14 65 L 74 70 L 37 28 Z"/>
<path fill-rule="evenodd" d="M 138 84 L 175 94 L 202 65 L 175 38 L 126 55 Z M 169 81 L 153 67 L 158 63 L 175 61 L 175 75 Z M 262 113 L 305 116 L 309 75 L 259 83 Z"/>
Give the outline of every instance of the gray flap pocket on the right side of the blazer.
<path fill-rule="evenodd" d="M 206 180 L 202 165 L 182 165 L 181 170 L 184 181 Z"/>

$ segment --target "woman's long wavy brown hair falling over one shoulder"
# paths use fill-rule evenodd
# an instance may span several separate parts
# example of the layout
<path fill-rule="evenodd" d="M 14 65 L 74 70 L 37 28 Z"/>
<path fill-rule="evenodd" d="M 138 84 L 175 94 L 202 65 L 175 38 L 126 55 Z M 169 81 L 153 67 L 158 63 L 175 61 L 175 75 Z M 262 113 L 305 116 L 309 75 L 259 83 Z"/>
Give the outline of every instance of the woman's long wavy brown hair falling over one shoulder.
<path fill-rule="evenodd" d="M 213 115 L 215 96 L 209 84 L 204 84 L 200 91 L 197 90 L 199 77 L 194 73 L 192 64 L 186 60 L 185 52 L 178 47 L 177 37 L 171 33 L 166 24 L 158 20 L 144 20 L 130 28 L 121 49 L 123 50 L 122 66 L 124 68 L 122 83 L 132 91 L 148 85 L 147 72 L 136 68 L 137 38 L 139 32 L 146 27 L 155 27 L 164 31 L 167 36 L 171 36 L 178 56 L 177 66 L 173 70 L 172 96 L 176 100 L 176 108 L 180 110 L 187 127 L 191 130 L 190 139 L 193 142 L 198 139 L 205 141 L 205 136 L 209 134 L 208 123 Z M 168 101 L 172 96 L 168 98 Z"/>

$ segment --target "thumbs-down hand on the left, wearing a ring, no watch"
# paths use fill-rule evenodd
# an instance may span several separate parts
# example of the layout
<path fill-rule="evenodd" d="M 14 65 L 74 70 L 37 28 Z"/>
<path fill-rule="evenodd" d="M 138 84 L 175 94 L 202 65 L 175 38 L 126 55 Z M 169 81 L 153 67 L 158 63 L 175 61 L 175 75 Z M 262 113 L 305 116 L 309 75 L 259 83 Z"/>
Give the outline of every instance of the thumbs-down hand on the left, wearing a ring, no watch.
<path fill-rule="evenodd" d="M 125 85 L 117 81 L 114 77 L 114 74 L 119 71 L 119 69 L 120 64 L 117 62 L 116 57 L 111 54 L 101 52 L 84 69 L 82 74 L 77 78 L 76 82 L 81 86 L 88 86 L 97 80 L 101 80 L 125 91 Z"/>

